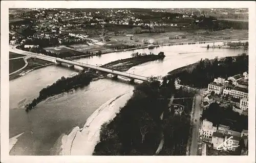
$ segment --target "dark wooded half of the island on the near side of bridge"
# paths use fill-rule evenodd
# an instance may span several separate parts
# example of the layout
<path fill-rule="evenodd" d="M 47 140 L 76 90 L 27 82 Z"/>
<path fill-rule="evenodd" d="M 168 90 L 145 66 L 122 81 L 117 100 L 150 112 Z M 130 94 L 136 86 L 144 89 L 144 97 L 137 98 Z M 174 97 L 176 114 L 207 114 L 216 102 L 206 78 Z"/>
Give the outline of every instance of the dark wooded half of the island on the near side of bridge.
<path fill-rule="evenodd" d="M 92 81 L 96 77 L 95 73 L 79 73 L 70 78 L 61 77 L 55 83 L 46 88 L 43 88 L 39 92 L 39 97 L 34 99 L 27 105 L 26 111 L 33 109 L 39 102 L 47 99 L 50 96 L 61 94 L 62 92 L 69 91 L 73 88 L 83 87 Z"/>

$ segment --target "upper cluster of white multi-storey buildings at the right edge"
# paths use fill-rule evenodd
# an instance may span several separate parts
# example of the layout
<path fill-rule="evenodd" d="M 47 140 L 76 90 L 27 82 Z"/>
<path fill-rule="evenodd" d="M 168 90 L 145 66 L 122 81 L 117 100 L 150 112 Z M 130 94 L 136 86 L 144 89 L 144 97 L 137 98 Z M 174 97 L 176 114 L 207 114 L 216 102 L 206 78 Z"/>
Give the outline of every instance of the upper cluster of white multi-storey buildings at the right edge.
<path fill-rule="evenodd" d="M 218 102 L 212 97 L 212 92 L 222 98 L 228 98 L 232 104 L 233 111 L 240 114 L 248 114 L 248 72 L 243 74 L 228 77 L 227 80 L 223 78 L 214 79 L 213 82 L 208 84 L 208 92 L 211 95 L 206 95 L 202 106 L 204 109 L 213 102 Z M 220 98 L 219 98 L 220 99 Z"/>

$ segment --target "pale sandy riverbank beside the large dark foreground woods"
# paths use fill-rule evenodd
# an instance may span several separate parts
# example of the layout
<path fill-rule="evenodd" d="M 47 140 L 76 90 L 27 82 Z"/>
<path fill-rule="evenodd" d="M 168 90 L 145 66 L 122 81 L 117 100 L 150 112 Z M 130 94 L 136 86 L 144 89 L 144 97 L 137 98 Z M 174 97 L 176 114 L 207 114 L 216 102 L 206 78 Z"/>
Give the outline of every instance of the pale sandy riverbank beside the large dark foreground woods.
<path fill-rule="evenodd" d="M 133 95 L 133 90 L 110 99 L 101 105 L 87 119 L 83 128 L 78 126 L 67 135 L 62 134 L 50 151 L 51 155 L 92 155 L 100 139 L 100 129 L 105 122 L 114 119 L 120 107 L 126 104 Z M 82 146 L 81 146 L 82 145 Z"/>

